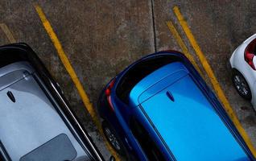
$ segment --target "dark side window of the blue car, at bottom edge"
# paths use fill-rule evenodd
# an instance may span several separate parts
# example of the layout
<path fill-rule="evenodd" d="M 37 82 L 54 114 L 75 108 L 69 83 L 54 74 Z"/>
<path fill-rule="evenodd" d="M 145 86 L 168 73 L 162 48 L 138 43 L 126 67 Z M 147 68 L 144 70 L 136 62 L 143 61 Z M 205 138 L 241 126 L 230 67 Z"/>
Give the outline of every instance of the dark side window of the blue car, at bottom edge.
<path fill-rule="evenodd" d="M 151 139 L 147 130 L 142 126 L 136 118 L 130 119 L 130 130 L 137 139 L 142 151 L 147 155 L 148 160 L 163 161 L 165 160 L 163 154 L 159 151 L 159 148 L 155 145 L 155 142 Z"/>

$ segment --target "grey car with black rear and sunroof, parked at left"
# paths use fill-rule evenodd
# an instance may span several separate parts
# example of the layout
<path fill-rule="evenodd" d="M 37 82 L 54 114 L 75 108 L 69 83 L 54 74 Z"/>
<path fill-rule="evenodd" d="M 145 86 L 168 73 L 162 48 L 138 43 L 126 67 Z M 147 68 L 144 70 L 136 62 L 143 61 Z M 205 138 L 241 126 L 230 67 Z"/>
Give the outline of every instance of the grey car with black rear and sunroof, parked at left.
<path fill-rule="evenodd" d="M 0 47 L 0 160 L 104 160 L 25 43 Z"/>

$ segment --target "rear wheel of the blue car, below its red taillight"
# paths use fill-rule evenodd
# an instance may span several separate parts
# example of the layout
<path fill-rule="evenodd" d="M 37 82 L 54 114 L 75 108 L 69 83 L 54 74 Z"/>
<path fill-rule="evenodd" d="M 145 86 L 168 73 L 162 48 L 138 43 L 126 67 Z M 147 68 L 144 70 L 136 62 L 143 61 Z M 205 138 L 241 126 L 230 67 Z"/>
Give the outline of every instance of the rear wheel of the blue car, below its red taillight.
<path fill-rule="evenodd" d="M 111 147 L 114 148 L 115 151 L 118 152 L 119 155 L 125 155 L 125 147 L 118 137 L 118 134 L 114 130 L 114 128 L 106 121 L 102 122 L 102 130 L 105 134 L 105 138 L 107 138 Z"/>

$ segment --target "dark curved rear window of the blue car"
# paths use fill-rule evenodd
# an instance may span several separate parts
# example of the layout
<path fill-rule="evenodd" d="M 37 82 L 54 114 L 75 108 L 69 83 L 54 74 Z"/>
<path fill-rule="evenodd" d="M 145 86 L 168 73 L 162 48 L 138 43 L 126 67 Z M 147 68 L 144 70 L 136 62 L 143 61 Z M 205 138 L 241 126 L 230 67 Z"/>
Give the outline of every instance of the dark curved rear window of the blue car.
<path fill-rule="evenodd" d="M 130 91 L 139 81 L 158 68 L 175 61 L 181 60 L 177 56 L 155 56 L 135 64 L 124 76 L 122 76 L 122 80 L 116 90 L 118 97 L 128 104 Z"/>

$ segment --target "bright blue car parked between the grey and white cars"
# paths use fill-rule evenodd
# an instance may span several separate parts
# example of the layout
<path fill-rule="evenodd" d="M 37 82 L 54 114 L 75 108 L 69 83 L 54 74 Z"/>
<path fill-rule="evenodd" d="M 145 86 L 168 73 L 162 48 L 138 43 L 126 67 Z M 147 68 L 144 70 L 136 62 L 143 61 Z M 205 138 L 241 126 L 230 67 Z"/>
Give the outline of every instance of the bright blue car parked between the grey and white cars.
<path fill-rule="evenodd" d="M 98 101 L 102 130 L 129 160 L 255 160 L 217 97 L 180 52 L 118 74 Z"/>

